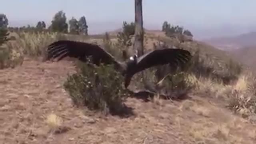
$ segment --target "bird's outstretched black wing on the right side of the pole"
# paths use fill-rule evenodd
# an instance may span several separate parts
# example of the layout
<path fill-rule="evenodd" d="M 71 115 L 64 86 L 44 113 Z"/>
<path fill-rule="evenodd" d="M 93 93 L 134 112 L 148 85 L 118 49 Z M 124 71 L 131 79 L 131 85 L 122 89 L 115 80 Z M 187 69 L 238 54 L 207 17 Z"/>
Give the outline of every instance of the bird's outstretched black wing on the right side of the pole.
<path fill-rule="evenodd" d="M 134 74 L 152 66 L 164 64 L 177 66 L 179 64 L 185 64 L 190 58 L 191 54 L 187 50 L 178 48 L 154 50 L 138 58 L 137 65 L 134 68 Z"/>

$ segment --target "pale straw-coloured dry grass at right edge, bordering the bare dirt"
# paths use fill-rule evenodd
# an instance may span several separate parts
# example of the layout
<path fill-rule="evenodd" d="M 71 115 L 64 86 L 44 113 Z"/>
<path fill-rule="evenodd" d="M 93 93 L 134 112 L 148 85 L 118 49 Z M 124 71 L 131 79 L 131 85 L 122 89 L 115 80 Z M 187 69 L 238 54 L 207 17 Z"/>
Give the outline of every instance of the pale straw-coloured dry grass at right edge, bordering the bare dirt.
<path fill-rule="evenodd" d="M 196 84 L 194 94 L 224 100 L 228 108 L 244 118 L 255 115 L 256 80 L 251 73 L 241 74 L 236 82 L 228 85 L 210 78 L 196 79 Z"/>

